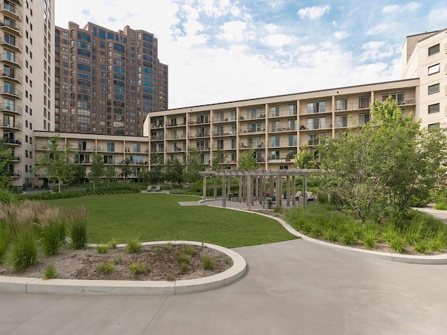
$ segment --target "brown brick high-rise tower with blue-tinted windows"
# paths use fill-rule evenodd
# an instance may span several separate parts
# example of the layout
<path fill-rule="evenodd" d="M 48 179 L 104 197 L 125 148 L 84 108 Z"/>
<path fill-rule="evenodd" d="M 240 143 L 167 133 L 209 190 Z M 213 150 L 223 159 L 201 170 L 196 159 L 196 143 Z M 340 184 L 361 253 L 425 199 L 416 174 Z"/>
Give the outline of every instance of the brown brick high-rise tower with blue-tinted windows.
<path fill-rule="evenodd" d="M 168 108 L 168 66 L 143 30 L 56 27 L 55 131 L 142 136 L 149 112 Z"/>

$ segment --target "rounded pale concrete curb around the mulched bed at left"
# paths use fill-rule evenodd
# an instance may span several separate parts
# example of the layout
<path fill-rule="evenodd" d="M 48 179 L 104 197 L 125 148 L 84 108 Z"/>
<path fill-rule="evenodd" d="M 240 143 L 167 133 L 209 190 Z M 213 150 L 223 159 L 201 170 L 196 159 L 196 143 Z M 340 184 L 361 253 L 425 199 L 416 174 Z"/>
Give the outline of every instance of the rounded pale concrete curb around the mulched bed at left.
<path fill-rule="evenodd" d="M 147 244 L 193 244 L 225 253 L 233 260 L 230 269 L 198 279 L 184 281 L 90 281 L 78 279 L 22 278 L 0 276 L 0 292 L 63 294 L 63 295 L 177 295 L 214 290 L 233 283 L 247 270 L 241 255 L 223 246 L 194 241 L 157 241 Z M 120 244 L 119 246 L 124 246 Z"/>

